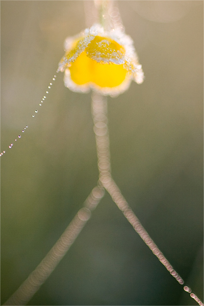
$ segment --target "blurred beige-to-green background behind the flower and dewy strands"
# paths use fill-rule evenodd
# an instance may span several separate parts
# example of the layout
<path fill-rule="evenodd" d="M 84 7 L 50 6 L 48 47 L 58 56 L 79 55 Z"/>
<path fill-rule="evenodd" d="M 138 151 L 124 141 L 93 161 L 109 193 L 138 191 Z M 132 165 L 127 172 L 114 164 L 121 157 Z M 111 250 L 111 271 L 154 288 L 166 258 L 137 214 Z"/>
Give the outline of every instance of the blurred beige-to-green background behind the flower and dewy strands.
<path fill-rule="evenodd" d="M 203 2 L 119 1 L 118 7 L 145 81 L 108 98 L 112 175 L 166 258 L 203 298 Z M 69 91 L 59 73 L 38 106 L 64 39 L 85 22 L 82 1 L 1 2 L 2 303 L 54 245 L 98 179 L 91 94 Z M 29 302 L 194 304 L 108 194 Z"/>

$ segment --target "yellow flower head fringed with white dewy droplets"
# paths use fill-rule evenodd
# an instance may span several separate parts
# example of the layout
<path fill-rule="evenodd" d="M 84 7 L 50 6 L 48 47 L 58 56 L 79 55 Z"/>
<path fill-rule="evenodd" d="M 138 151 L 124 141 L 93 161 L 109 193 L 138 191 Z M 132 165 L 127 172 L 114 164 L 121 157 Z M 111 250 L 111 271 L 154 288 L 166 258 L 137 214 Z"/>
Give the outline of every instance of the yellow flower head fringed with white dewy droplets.
<path fill-rule="evenodd" d="M 141 84 L 142 66 L 130 36 L 95 24 L 80 35 L 65 40 L 65 55 L 58 71 L 65 71 L 64 84 L 72 91 L 90 88 L 116 96 L 129 88 L 131 80 Z"/>

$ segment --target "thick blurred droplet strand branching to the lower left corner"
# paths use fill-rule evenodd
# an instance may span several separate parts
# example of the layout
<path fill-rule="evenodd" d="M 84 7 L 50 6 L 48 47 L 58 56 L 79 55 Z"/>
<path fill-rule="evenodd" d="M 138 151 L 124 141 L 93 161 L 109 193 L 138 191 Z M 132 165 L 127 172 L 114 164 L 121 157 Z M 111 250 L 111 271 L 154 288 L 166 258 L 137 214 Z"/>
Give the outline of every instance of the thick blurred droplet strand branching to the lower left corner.
<path fill-rule="evenodd" d="M 47 277 L 54 271 L 75 239 L 77 239 L 91 217 L 91 212 L 96 208 L 103 196 L 103 187 L 96 186 L 93 188 L 84 202 L 84 207 L 78 211 L 56 244 L 4 305 L 26 305 L 28 303 Z"/>

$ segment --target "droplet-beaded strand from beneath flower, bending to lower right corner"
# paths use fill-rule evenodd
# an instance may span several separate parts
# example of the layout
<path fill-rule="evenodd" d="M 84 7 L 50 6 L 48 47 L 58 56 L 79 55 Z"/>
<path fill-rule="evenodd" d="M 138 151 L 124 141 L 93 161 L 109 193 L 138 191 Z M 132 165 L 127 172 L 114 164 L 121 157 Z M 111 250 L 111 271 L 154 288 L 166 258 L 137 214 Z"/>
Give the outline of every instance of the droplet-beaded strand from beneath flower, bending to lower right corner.
<path fill-rule="evenodd" d="M 108 193 L 111 195 L 113 201 L 116 203 L 117 207 L 122 211 L 123 215 L 133 226 L 134 230 L 139 234 L 145 244 L 149 247 L 152 253 L 159 259 L 159 261 L 165 266 L 165 268 L 170 272 L 170 274 L 176 279 L 179 284 L 183 285 L 184 280 L 177 273 L 168 260 L 165 258 L 164 254 L 160 251 L 158 246 L 150 238 L 145 228 L 140 223 L 139 219 L 136 217 L 133 210 L 130 208 L 123 195 L 121 194 L 118 186 L 114 182 L 111 176 L 111 162 L 110 162 L 110 149 L 109 149 L 109 132 L 108 132 L 108 119 L 107 119 L 107 98 L 99 95 L 98 93 L 92 93 L 92 115 L 94 121 L 94 133 L 96 139 L 96 149 L 98 157 L 98 170 L 99 170 L 99 182 Z M 201 306 L 203 306 L 202 301 L 196 296 L 196 294 L 191 293 L 191 289 L 184 286 L 184 290 L 190 293 L 190 296 Z"/>

